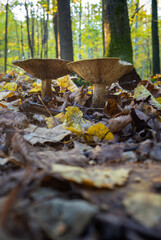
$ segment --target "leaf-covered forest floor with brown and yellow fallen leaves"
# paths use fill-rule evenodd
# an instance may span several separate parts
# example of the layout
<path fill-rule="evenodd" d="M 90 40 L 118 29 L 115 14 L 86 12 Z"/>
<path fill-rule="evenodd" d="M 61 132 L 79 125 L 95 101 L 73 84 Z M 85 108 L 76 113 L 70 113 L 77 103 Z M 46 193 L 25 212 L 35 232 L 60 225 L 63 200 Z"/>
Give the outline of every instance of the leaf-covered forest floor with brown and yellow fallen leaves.
<path fill-rule="evenodd" d="M 161 239 L 161 82 L 107 89 L 0 75 L 0 239 Z"/>

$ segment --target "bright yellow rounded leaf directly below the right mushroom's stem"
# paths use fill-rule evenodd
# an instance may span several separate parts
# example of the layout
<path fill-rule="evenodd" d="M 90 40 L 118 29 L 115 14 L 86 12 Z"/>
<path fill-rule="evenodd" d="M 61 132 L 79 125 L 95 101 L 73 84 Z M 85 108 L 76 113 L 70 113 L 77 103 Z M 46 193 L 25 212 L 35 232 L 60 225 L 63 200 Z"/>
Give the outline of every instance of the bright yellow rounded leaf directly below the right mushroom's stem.
<path fill-rule="evenodd" d="M 113 139 L 113 134 L 103 123 L 96 123 L 90 126 L 85 134 L 85 139 L 87 142 L 93 142 L 93 137 L 95 136 L 102 140 Z"/>

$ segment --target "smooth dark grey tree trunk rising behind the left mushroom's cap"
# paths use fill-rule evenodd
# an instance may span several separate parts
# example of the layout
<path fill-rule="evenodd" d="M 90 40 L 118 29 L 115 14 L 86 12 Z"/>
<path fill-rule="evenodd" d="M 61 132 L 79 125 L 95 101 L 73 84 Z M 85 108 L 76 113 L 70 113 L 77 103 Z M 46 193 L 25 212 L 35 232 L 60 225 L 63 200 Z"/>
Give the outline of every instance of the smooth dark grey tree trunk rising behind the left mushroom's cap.
<path fill-rule="evenodd" d="M 60 56 L 73 61 L 73 40 L 70 16 L 70 0 L 58 0 L 58 37 L 60 40 Z"/>

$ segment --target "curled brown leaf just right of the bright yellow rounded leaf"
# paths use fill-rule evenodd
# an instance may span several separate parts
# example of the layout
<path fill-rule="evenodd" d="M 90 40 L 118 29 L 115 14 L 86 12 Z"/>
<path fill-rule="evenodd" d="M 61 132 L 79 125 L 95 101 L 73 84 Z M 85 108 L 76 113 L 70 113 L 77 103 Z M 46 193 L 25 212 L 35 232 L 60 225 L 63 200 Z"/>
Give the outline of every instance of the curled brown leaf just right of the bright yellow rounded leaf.
<path fill-rule="evenodd" d="M 108 128 L 112 133 L 116 133 L 124 129 L 132 122 L 131 115 L 123 115 L 109 120 Z"/>

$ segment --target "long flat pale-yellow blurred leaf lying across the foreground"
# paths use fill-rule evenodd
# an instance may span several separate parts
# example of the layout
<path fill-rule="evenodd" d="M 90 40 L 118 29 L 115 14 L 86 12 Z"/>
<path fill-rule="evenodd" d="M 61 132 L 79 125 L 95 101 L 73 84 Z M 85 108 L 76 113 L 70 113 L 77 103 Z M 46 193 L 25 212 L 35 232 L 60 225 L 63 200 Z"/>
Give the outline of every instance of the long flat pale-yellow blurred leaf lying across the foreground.
<path fill-rule="evenodd" d="M 66 180 L 96 188 L 114 189 L 125 184 L 130 170 L 119 168 L 81 168 L 63 164 L 52 164 L 52 173 L 60 174 Z"/>

